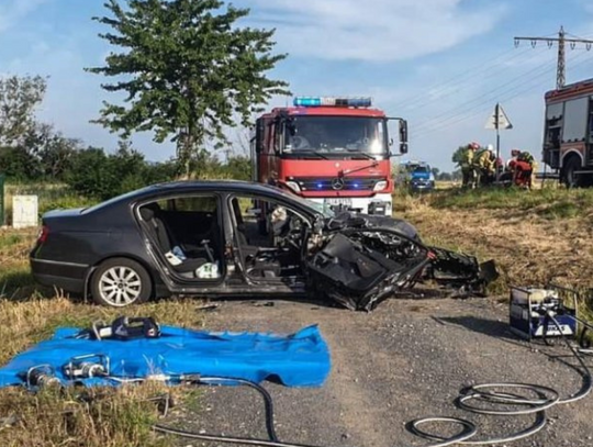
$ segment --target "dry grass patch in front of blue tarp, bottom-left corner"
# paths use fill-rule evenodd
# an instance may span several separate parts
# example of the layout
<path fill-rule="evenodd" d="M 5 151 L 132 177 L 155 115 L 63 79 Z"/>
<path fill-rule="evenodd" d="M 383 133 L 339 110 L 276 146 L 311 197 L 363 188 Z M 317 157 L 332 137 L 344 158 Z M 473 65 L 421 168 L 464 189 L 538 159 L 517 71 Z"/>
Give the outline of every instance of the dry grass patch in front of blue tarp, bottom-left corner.
<path fill-rule="evenodd" d="M 7 447 L 166 447 L 152 425 L 158 420 L 163 387 L 148 383 L 112 389 L 46 388 L 37 393 L 22 389 L 2 392 L 0 416 L 12 420 L 0 427 Z"/>

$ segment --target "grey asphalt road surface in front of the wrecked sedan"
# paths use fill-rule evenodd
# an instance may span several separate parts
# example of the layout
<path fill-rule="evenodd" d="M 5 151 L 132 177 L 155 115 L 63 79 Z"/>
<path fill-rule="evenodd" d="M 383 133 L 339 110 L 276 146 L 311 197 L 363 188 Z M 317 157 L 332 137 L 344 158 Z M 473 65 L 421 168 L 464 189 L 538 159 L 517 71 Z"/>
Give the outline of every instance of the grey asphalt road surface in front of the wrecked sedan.
<path fill-rule="evenodd" d="M 373 313 L 312 303 L 223 302 L 206 315 L 206 329 L 290 333 L 318 324 L 332 353 L 332 372 L 322 388 L 265 383 L 276 405 L 281 440 L 315 446 L 399 447 L 429 444 L 405 423 L 445 415 L 474 422 L 477 438 L 528 427 L 534 416 L 477 416 L 456 409 L 462 388 L 482 382 L 529 382 L 561 396 L 582 385 L 579 373 L 557 358 L 568 350 L 529 345 L 508 332 L 507 306 L 493 299 L 391 300 Z M 590 361 L 593 365 L 593 359 Z M 176 409 L 170 416 L 187 428 L 264 437 L 264 406 L 243 388 L 203 389 L 200 410 Z M 555 406 L 539 434 L 513 446 L 593 446 L 593 394 Z M 427 426 L 427 428 L 430 428 Z M 446 427 L 432 429 L 447 431 Z M 182 446 L 206 445 L 180 440 Z"/>

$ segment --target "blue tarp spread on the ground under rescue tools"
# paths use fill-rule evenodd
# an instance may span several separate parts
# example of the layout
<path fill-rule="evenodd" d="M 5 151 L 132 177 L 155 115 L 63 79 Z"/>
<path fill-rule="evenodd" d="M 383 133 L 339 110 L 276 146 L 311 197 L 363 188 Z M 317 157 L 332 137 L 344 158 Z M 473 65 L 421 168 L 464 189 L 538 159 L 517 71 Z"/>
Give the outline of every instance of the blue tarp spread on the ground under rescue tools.
<path fill-rule="evenodd" d="M 278 378 L 288 387 L 317 387 L 329 373 L 329 351 L 317 326 L 291 335 L 212 333 L 163 326 L 159 338 L 91 340 L 74 338 L 80 329 L 60 328 L 54 336 L 15 356 L 0 368 L 0 387 L 23 384 L 26 371 L 49 365 L 65 383 L 64 367 L 72 357 L 100 354 L 110 360 L 111 376 L 220 376 L 261 382 Z M 116 384 L 89 379 L 87 384 Z"/>

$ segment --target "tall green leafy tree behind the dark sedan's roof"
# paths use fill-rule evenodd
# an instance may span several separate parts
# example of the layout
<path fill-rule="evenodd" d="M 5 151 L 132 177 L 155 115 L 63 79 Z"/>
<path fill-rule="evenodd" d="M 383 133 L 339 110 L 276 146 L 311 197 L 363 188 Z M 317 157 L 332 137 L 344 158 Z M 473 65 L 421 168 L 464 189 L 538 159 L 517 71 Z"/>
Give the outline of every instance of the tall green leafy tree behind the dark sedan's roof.
<path fill-rule="evenodd" d="M 287 83 L 266 72 L 286 55 L 273 55 L 273 30 L 240 27 L 249 10 L 224 7 L 219 0 L 119 0 L 104 3 L 111 16 L 94 18 L 112 29 L 100 34 L 122 48 L 111 53 L 94 74 L 116 77 L 103 85 L 125 92 L 124 105 L 105 102 L 97 120 L 123 136 L 154 131 L 155 141 L 171 137 L 180 165 L 206 138 L 228 144 L 225 126 L 250 124 L 253 113 L 273 94 L 289 94 Z"/>

